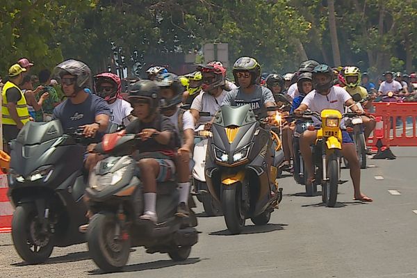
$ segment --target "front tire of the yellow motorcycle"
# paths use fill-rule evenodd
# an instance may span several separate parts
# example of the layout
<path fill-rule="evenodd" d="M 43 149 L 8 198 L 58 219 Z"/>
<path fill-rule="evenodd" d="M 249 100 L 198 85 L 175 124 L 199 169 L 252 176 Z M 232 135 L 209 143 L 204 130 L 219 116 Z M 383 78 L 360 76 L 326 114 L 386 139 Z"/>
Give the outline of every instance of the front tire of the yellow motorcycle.
<path fill-rule="evenodd" d="M 329 162 L 327 163 L 327 177 L 329 180 L 325 181 L 322 187 L 323 201 L 329 207 L 334 207 L 337 201 L 338 166 L 336 157 L 329 158 Z"/>

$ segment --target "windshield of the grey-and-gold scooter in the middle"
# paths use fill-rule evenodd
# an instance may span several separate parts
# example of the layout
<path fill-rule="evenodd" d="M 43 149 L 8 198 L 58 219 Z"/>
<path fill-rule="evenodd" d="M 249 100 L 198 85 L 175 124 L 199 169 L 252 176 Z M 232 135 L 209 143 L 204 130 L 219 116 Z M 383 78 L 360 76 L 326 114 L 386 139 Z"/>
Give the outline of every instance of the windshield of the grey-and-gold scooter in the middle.
<path fill-rule="evenodd" d="M 215 114 L 214 124 L 220 126 L 244 126 L 256 122 L 255 114 L 249 104 L 243 106 L 224 105 Z"/>

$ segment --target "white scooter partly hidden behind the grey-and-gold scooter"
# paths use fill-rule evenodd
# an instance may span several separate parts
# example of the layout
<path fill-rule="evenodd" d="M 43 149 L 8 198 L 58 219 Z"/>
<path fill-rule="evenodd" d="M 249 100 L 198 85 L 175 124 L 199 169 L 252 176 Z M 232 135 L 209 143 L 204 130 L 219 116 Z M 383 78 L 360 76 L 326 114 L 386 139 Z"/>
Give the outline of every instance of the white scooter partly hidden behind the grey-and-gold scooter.
<path fill-rule="evenodd" d="M 193 167 L 194 194 L 199 202 L 202 202 L 204 212 L 207 216 L 220 216 L 223 214 L 222 208 L 210 193 L 208 193 L 206 177 L 204 176 L 207 142 L 210 135 L 210 131 L 204 130 L 204 124 L 195 129 L 194 138 L 197 142 L 194 145 L 193 152 L 193 160 L 195 163 Z"/>

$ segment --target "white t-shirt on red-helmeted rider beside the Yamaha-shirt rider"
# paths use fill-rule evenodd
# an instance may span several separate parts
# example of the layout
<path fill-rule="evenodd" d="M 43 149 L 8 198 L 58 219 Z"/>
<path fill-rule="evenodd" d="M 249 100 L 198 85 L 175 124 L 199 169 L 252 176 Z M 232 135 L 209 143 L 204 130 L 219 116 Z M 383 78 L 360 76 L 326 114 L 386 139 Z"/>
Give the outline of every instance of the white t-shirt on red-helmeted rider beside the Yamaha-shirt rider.
<path fill-rule="evenodd" d="M 227 91 L 223 90 L 218 97 L 213 97 L 208 94 L 208 92 L 201 92 L 197 97 L 195 97 L 193 104 L 191 104 L 191 109 L 195 109 L 199 112 L 208 112 L 211 115 L 211 117 L 200 117 L 200 123 L 204 124 L 211 121 L 215 113 L 220 109 L 226 95 Z"/>

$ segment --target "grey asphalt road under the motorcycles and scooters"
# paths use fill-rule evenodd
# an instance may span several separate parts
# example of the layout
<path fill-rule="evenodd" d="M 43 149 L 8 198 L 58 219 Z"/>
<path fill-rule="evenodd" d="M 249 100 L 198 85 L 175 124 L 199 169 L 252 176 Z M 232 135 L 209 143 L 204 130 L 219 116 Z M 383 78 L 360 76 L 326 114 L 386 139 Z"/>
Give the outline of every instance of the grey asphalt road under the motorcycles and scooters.
<path fill-rule="evenodd" d="M 131 252 L 124 272 L 103 275 L 85 244 L 56 248 L 42 265 L 25 265 L 10 234 L 0 234 L 0 277 L 417 277 L 417 148 L 393 148 L 395 161 L 369 160 L 363 192 L 374 202 L 352 201 L 349 181 L 336 208 L 321 197 L 304 197 L 292 177 L 280 179 L 284 199 L 270 224 L 229 236 L 222 217 L 199 212 L 199 243 L 190 259 L 174 263 L 165 254 Z M 343 170 L 343 179 L 348 172 Z M 390 190 L 390 191 L 389 191 Z"/>

